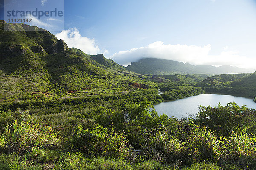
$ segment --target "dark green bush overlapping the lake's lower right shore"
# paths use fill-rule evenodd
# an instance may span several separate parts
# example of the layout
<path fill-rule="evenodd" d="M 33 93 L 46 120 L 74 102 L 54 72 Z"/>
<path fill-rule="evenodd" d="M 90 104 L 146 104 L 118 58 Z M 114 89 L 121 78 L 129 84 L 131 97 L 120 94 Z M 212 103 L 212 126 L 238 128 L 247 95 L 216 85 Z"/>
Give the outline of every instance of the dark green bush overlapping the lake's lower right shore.
<path fill-rule="evenodd" d="M 200 106 L 196 123 L 209 127 L 215 134 L 227 135 L 239 128 L 250 126 L 254 122 L 255 114 L 255 110 L 239 107 L 234 102 L 227 106 Z"/>

